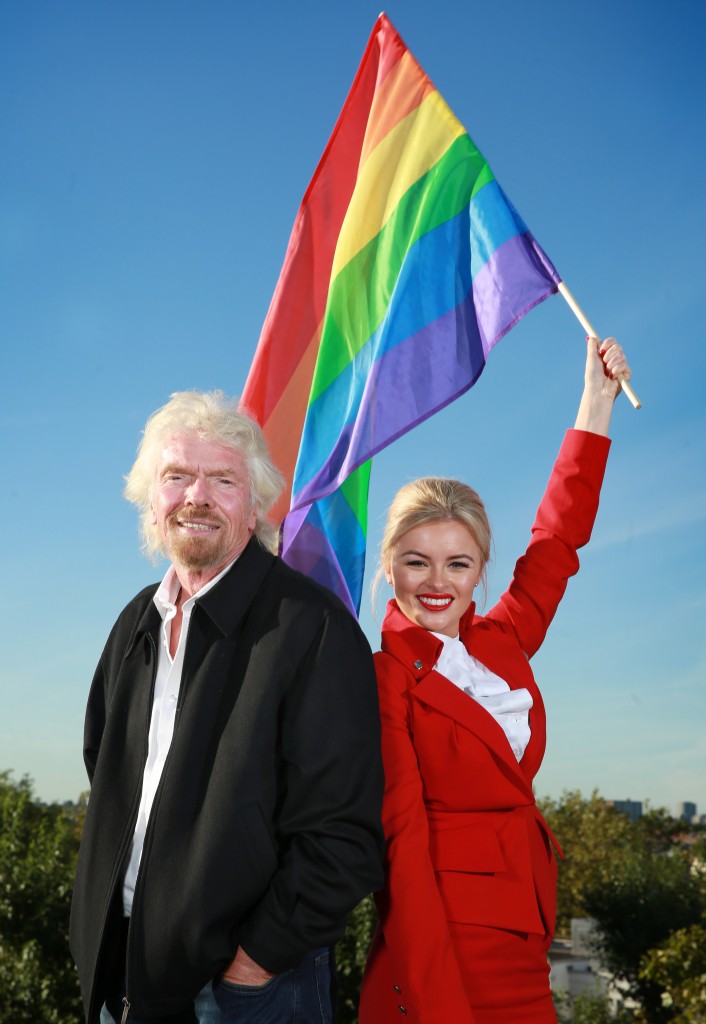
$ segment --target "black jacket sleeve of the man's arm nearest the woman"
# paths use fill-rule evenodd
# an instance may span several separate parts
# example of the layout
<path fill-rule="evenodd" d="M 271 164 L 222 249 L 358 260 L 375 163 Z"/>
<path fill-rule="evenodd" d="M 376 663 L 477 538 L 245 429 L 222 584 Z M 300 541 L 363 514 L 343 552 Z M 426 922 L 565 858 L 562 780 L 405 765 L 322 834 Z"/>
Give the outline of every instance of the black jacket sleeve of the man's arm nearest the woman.
<path fill-rule="evenodd" d="M 358 623 L 329 611 L 281 708 L 278 868 L 239 941 L 281 972 L 336 942 L 382 884 L 382 762 L 373 658 Z"/>

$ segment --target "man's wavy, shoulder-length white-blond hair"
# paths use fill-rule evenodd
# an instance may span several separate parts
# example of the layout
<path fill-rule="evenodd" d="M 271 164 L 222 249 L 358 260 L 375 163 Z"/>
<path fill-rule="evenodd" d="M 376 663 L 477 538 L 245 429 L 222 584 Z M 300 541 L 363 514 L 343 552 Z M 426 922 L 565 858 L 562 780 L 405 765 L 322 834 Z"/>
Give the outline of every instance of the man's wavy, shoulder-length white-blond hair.
<path fill-rule="evenodd" d="M 250 475 L 250 504 L 257 505 L 254 536 L 262 547 L 277 550 L 278 528 L 266 515 L 279 498 L 284 478 L 274 465 L 259 425 L 241 408 L 238 398 L 222 391 L 175 391 L 148 420 L 137 458 L 125 477 L 125 498 L 137 506 L 142 551 L 150 558 L 166 554 L 158 527 L 152 522 L 151 502 L 164 441 L 174 434 L 196 434 L 239 452 Z"/>

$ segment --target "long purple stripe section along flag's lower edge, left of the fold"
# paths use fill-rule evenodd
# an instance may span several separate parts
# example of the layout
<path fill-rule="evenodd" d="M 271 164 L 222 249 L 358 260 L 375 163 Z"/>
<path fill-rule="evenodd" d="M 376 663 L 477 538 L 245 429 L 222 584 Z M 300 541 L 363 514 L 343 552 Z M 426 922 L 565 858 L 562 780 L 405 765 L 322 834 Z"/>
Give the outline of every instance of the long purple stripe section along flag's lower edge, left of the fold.
<path fill-rule="evenodd" d="M 467 391 L 484 366 L 475 305 L 468 294 L 373 362 L 356 420 L 343 428 L 320 472 L 294 496 L 292 508 L 340 486 L 362 463 Z"/>

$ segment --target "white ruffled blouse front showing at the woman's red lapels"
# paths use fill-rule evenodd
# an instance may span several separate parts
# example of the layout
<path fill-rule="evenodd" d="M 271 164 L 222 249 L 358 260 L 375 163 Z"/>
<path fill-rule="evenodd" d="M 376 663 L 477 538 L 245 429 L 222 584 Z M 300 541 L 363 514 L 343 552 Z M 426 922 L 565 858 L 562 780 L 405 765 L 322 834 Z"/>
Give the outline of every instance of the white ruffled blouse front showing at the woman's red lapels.
<path fill-rule="evenodd" d="M 511 690 L 504 679 L 496 676 L 468 653 L 460 637 L 447 637 L 442 633 L 433 635 L 444 644 L 434 665 L 437 672 L 455 683 L 493 716 L 507 736 L 515 758 L 521 761 L 531 735 L 532 696 L 529 690 Z"/>

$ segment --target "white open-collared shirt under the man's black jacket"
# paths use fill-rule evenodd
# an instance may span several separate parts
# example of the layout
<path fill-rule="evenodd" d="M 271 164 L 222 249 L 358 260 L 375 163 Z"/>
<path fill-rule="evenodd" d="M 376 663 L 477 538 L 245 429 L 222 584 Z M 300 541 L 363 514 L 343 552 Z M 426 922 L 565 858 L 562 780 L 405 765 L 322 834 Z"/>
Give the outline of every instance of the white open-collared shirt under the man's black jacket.
<path fill-rule="evenodd" d="M 162 617 L 162 628 L 160 630 L 160 644 L 157 653 L 157 676 L 155 678 L 155 692 L 152 700 L 148 759 L 144 762 L 144 771 L 142 773 L 142 793 L 139 798 L 139 810 L 137 811 L 130 856 L 123 878 L 123 913 L 126 918 L 130 916 L 130 911 L 132 910 L 132 899 L 135 893 L 139 861 L 142 856 L 144 834 L 147 833 L 152 805 L 155 802 L 155 796 L 160 779 L 162 778 L 162 769 L 167 760 L 174 735 L 174 722 L 179 702 L 179 690 L 181 688 L 183 655 L 186 649 L 189 623 L 191 622 L 192 611 L 194 610 L 196 599 L 203 597 L 204 594 L 214 587 L 225 575 L 234 562 L 235 559 L 218 575 L 210 580 L 200 591 L 190 597 L 188 601 L 184 601 L 181 606 L 181 632 L 179 633 L 179 642 L 173 658 L 169 653 L 171 623 L 176 614 L 176 601 L 181 589 L 173 565 L 170 565 L 167 569 L 153 598 L 157 605 L 157 610 Z"/>

